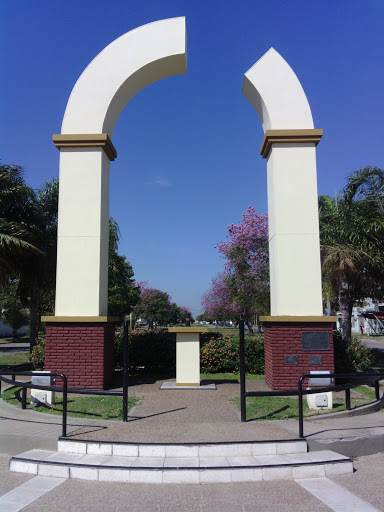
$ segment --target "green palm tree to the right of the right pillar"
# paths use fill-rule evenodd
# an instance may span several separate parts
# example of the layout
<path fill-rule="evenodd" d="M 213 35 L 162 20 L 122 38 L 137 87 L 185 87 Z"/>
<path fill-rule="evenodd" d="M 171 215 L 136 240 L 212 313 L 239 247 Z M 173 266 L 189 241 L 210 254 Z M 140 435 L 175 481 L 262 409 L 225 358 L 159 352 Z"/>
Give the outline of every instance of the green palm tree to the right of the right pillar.
<path fill-rule="evenodd" d="M 339 196 L 320 196 L 323 277 L 337 290 L 343 336 L 351 337 L 356 301 L 384 295 L 384 173 L 366 167 Z"/>

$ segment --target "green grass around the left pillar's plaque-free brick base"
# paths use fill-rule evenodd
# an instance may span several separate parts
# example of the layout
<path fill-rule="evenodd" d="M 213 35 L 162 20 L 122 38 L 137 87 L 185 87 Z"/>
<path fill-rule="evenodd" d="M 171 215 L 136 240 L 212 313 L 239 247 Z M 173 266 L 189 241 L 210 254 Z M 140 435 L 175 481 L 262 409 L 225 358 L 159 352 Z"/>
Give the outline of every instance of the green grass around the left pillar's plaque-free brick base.
<path fill-rule="evenodd" d="M 10 388 L 1 396 L 8 403 L 21 407 L 21 388 Z M 128 410 L 140 401 L 137 396 L 128 397 Z M 62 415 L 63 400 L 56 398 L 55 405 L 35 406 L 34 411 Z M 121 420 L 123 415 L 123 399 L 121 396 L 70 396 L 68 398 L 68 416 L 103 420 Z"/>

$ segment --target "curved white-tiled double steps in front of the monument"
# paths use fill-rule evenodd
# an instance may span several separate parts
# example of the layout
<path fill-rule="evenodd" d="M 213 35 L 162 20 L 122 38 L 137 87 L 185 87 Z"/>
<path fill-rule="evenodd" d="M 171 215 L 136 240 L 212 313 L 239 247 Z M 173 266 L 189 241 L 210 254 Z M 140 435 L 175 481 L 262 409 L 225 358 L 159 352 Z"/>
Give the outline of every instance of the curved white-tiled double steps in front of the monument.
<path fill-rule="evenodd" d="M 309 453 L 305 441 L 210 445 L 59 441 L 58 451 L 29 450 L 12 457 L 10 470 L 104 482 L 197 484 L 318 478 L 353 472 L 353 463 L 332 451 Z"/>

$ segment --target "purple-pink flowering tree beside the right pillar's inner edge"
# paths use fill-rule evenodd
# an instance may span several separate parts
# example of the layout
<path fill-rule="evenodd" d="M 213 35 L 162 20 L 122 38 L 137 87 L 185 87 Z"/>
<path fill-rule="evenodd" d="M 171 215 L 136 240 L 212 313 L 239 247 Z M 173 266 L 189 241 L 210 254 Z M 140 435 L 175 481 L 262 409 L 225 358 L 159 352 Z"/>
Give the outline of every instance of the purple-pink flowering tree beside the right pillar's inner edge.
<path fill-rule="evenodd" d="M 255 316 L 269 309 L 268 215 L 249 206 L 216 247 L 226 260 L 225 270 L 213 278 L 202 307 L 217 319 L 243 317 L 252 333 Z"/>

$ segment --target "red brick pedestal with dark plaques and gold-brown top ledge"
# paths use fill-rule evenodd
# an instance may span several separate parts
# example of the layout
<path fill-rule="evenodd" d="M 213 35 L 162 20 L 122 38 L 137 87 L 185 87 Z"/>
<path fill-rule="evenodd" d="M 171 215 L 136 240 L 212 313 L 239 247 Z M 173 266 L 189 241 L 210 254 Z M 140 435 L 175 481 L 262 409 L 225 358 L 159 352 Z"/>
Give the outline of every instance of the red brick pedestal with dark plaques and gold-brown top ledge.
<path fill-rule="evenodd" d="M 266 316 L 265 381 L 273 390 L 297 389 L 311 371 L 335 371 L 332 328 L 336 317 Z"/>

